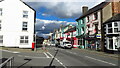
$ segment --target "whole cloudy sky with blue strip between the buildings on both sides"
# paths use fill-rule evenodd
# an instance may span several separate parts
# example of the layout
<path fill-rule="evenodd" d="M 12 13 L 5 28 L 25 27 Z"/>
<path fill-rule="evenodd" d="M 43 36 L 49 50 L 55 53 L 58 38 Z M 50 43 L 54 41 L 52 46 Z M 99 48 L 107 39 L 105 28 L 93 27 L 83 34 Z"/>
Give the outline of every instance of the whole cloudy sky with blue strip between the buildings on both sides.
<path fill-rule="evenodd" d="M 35 30 L 38 36 L 47 38 L 60 25 L 76 25 L 82 15 L 82 6 L 88 9 L 105 0 L 23 0 L 36 11 Z M 39 31 L 38 31 L 39 30 Z"/>

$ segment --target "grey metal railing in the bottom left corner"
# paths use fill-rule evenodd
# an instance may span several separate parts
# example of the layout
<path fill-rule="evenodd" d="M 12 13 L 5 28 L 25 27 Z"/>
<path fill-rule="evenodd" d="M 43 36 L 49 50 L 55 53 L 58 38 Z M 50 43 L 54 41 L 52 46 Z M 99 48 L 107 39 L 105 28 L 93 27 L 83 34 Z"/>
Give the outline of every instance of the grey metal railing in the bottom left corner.
<path fill-rule="evenodd" d="M 14 57 L 8 58 L 6 61 L 0 64 L 0 68 L 13 68 Z"/>

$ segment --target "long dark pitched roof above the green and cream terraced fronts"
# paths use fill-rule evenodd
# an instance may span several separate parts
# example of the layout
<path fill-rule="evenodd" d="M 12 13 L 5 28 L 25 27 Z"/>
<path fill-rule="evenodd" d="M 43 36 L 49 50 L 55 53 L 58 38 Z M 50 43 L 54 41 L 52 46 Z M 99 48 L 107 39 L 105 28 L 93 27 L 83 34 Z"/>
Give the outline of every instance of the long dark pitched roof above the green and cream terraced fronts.
<path fill-rule="evenodd" d="M 80 16 L 78 19 L 76 19 L 76 21 L 78 21 L 79 19 L 81 19 L 81 18 L 83 18 L 83 17 L 85 17 L 85 16 L 87 16 L 87 15 L 89 15 L 89 14 L 95 12 L 95 11 L 98 11 L 98 10 L 102 9 L 103 7 L 105 7 L 109 3 L 110 2 L 102 2 L 102 3 L 98 4 L 97 6 L 89 9 L 85 14 L 83 14 L 82 16 Z"/>

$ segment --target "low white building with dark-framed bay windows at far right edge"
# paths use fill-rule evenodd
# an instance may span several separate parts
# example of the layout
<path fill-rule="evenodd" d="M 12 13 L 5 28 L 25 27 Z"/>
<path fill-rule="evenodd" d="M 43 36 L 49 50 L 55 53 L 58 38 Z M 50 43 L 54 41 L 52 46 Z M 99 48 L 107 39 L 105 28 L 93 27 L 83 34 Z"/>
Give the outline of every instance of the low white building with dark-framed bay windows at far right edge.
<path fill-rule="evenodd" d="M 118 50 L 120 48 L 120 34 L 119 34 L 119 25 L 120 23 L 120 14 L 117 14 L 110 19 L 108 19 L 104 24 L 105 32 L 105 46 L 108 50 Z"/>

